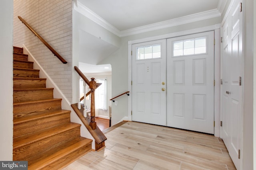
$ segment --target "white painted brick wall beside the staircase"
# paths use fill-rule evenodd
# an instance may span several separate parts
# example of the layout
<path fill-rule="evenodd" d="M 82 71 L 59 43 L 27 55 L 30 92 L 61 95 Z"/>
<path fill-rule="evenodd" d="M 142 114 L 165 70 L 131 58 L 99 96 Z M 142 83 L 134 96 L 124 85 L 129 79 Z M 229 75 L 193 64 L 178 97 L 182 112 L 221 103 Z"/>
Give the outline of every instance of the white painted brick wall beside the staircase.
<path fill-rule="evenodd" d="M 18 19 L 21 16 L 67 62 L 63 64 Z M 25 44 L 72 101 L 72 0 L 14 0 L 14 46 Z"/>

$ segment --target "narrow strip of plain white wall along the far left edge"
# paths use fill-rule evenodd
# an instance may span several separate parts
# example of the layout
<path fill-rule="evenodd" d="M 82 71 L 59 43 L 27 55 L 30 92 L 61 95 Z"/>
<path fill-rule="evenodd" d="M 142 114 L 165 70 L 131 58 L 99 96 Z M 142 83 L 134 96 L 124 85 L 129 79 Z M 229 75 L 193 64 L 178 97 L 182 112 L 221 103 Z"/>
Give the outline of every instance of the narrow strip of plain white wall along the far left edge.
<path fill-rule="evenodd" d="M 12 160 L 12 0 L 0 1 L 0 16 L 0 160 Z"/>

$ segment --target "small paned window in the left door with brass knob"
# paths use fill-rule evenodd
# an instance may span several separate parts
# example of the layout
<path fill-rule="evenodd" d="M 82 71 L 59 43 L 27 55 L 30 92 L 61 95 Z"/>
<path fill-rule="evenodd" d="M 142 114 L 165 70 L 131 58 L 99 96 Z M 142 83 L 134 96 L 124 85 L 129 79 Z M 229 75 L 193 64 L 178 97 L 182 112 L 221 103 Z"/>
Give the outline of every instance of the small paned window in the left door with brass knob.
<path fill-rule="evenodd" d="M 155 59 L 161 57 L 161 45 L 137 47 L 137 60 Z"/>

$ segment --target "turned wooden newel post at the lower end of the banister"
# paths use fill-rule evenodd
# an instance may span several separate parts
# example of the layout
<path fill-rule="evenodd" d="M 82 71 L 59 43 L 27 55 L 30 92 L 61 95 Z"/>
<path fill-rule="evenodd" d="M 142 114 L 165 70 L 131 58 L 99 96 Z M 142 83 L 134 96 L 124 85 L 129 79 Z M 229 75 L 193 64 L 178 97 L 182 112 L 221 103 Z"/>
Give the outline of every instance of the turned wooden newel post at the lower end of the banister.
<path fill-rule="evenodd" d="M 90 121 L 90 127 L 92 127 L 92 130 L 96 129 L 96 122 L 95 122 L 95 100 L 94 100 L 94 91 L 96 89 L 96 81 L 94 81 L 95 78 L 91 78 L 89 87 L 91 89 L 91 121 Z"/>

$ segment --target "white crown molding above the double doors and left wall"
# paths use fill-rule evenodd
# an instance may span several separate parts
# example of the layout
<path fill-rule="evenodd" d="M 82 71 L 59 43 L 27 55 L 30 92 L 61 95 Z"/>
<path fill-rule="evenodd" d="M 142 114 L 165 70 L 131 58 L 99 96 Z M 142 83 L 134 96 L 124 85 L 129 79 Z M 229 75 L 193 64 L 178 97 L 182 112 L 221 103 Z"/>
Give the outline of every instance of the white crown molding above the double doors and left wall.
<path fill-rule="evenodd" d="M 220 0 L 220 1 L 222 1 L 222 0 Z M 223 1 L 226 1 L 226 0 L 223 0 Z M 223 3 L 221 3 L 220 5 L 218 4 L 218 6 L 220 6 L 220 7 L 224 6 L 222 4 Z M 222 8 L 224 9 L 224 7 L 222 7 Z M 153 24 L 144 25 L 141 27 L 136 27 L 136 28 L 120 31 L 119 29 L 117 29 L 116 27 L 114 27 L 113 25 L 111 25 L 110 23 L 105 21 L 103 18 L 101 18 L 100 16 L 95 14 L 89 8 L 84 6 L 79 1 L 77 1 L 77 6 L 74 6 L 74 10 L 80 12 L 82 15 L 86 16 L 87 18 L 94 21 L 95 23 L 98 23 L 100 26 L 102 26 L 105 29 L 107 29 L 108 31 L 114 33 L 118 37 L 125 37 L 125 36 L 134 35 L 134 34 L 138 34 L 138 33 L 154 31 L 154 30 L 158 30 L 158 29 L 173 27 L 173 26 L 182 25 L 182 24 L 186 24 L 186 23 L 192 23 L 192 22 L 201 21 L 201 20 L 207 20 L 210 18 L 216 18 L 216 17 L 221 16 L 220 11 L 218 9 L 214 9 L 214 10 L 208 10 L 205 12 L 200 12 L 197 14 L 192 14 L 192 15 L 188 15 L 188 16 L 184 16 L 184 17 L 180 17 L 180 18 L 175 18 L 172 20 L 162 21 L 162 22 L 158 22 L 158 23 L 153 23 Z"/>

